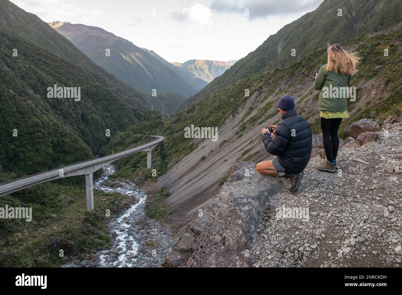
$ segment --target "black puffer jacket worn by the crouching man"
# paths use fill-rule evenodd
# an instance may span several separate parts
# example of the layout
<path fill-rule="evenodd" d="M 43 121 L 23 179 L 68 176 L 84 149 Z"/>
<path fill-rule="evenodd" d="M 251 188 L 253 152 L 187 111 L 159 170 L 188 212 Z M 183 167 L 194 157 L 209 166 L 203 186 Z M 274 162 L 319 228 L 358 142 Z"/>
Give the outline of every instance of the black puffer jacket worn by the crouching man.
<path fill-rule="evenodd" d="M 299 173 L 310 161 L 312 132 L 310 124 L 296 110 L 289 110 L 282 116 L 274 138 L 269 133 L 263 134 L 265 149 L 271 155 L 278 156 L 279 163 L 287 173 Z"/>

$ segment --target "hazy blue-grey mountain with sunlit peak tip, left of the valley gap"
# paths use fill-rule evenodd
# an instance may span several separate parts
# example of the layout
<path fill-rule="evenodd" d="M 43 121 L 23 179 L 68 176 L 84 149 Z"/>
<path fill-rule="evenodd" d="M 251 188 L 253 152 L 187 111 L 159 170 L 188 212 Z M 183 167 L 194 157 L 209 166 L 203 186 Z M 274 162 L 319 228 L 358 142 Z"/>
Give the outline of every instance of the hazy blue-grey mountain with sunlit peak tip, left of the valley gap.
<path fill-rule="evenodd" d="M 207 85 L 202 79 L 184 71 L 177 71 L 172 79 L 174 65 L 102 28 L 70 23 L 60 26 L 59 22 L 50 25 L 92 61 L 146 93 L 151 94 L 156 89 L 158 94 L 178 92 L 188 98 Z M 106 55 L 106 49 L 110 49 L 110 56 Z"/>

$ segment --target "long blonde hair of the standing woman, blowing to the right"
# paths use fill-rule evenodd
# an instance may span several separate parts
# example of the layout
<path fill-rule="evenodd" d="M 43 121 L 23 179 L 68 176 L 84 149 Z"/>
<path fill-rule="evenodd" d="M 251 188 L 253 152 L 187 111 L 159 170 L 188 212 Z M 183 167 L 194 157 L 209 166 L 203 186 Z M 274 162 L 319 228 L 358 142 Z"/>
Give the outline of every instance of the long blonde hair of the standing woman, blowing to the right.
<path fill-rule="evenodd" d="M 338 73 L 338 67 L 341 66 L 340 72 L 346 75 L 355 75 L 357 73 L 356 66 L 359 64 L 360 57 L 357 53 L 349 53 L 338 45 L 334 44 L 328 48 L 327 71 Z"/>

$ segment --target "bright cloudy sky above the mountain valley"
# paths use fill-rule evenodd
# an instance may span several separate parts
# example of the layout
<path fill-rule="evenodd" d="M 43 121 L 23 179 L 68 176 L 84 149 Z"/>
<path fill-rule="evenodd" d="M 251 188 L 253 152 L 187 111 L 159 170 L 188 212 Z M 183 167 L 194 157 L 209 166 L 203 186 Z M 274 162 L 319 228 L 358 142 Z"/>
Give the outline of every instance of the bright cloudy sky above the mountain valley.
<path fill-rule="evenodd" d="M 98 26 L 155 51 L 169 62 L 182 63 L 195 58 L 229 61 L 244 57 L 269 35 L 316 9 L 323 0 L 11 2 L 45 22 L 61 20 Z"/>

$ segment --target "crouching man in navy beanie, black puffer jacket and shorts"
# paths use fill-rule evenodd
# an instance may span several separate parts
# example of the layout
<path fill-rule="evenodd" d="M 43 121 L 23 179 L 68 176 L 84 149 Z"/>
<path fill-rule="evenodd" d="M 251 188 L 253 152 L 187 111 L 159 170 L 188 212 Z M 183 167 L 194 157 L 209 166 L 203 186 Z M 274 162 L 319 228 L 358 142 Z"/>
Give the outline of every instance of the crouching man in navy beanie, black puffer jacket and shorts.
<path fill-rule="evenodd" d="M 278 107 L 282 121 L 277 126 L 269 125 L 272 132 L 261 130 L 265 149 L 277 157 L 258 163 L 256 170 L 262 175 L 290 178 L 290 191 L 295 192 L 310 161 L 312 132 L 310 124 L 296 114 L 293 97 L 282 96 Z"/>

